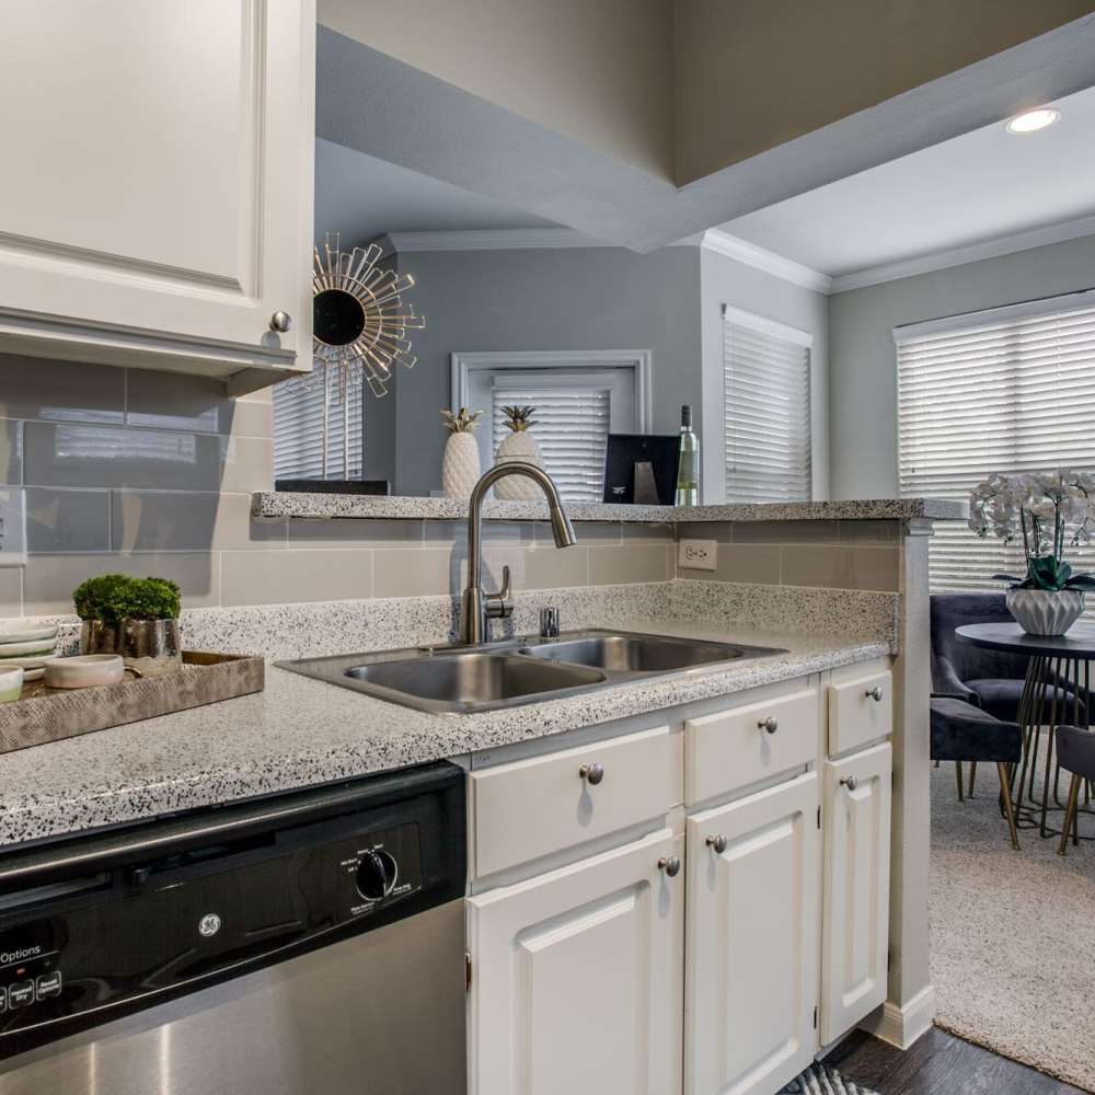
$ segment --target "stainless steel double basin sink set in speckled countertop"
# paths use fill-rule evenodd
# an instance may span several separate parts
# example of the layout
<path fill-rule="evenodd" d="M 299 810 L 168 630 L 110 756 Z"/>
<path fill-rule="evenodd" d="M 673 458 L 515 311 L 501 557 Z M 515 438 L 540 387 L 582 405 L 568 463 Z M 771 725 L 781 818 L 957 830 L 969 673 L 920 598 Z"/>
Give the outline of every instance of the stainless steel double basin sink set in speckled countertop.
<path fill-rule="evenodd" d="M 482 646 L 385 650 L 278 665 L 418 711 L 460 714 L 783 653 L 762 646 L 593 630 L 558 638 L 511 638 Z"/>

